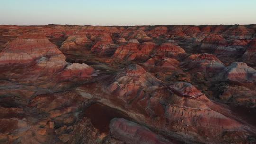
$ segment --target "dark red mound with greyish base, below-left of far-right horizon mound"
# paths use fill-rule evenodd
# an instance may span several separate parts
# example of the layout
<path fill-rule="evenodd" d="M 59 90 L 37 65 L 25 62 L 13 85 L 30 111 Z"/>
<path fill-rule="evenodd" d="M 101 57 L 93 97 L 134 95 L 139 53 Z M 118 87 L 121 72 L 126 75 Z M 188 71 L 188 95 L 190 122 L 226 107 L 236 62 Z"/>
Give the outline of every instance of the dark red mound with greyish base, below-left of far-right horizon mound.
<path fill-rule="evenodd" d="M 200 51 L 212 52 L 219 45 L 226 45 L 225 39 L 219 34 L 209 34 L 201 41 Z"/>

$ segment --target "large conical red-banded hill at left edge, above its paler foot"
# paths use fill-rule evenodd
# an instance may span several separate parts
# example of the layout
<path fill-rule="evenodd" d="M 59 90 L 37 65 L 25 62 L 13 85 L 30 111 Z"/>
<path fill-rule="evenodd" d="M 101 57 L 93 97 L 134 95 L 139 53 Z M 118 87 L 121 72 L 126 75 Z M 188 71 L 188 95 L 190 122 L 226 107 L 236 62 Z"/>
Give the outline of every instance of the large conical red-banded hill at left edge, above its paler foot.
<path fill-rule="evenodd" d="M 65 60 L 64 54 L 44 34 L 32 31 L 16 38 L 6 46 L 0 53 L 0 64 L 27 64 L 41 57 L 53 56 L 59 60 Z"/>

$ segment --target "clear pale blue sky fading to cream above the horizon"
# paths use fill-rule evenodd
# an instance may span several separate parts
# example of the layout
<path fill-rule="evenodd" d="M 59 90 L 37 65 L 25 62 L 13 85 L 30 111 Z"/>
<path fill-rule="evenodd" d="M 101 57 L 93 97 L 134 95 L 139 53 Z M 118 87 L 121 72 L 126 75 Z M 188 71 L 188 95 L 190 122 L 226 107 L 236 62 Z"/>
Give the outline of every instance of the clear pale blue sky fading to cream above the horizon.
<path fill-rule="evenodd" d="M 256 24 L 256 0 L 0 0 L 0 24 Z"/>

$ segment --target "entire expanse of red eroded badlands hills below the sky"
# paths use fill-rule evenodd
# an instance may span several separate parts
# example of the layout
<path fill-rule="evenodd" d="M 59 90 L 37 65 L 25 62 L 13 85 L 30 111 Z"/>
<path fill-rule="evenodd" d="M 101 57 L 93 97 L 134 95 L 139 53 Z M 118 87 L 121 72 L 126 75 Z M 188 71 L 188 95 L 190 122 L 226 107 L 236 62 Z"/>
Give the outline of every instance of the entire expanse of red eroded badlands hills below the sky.
<path fill-rule="evenodd" d="M 0 144 L 256 144 L 256 24 L 0 25 Z"/>

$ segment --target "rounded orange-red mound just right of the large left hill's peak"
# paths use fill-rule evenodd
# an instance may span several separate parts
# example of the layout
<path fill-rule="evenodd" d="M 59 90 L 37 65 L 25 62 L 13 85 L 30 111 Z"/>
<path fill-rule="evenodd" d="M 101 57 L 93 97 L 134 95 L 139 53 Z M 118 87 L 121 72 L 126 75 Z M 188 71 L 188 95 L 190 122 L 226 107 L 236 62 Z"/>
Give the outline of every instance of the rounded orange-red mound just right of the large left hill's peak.
<path fill-rule="evenodd" d="M 61 46 L 61 50 L 82 50 L 91 46 L 91 40 L 85 35 L 69 36 Z"/>

